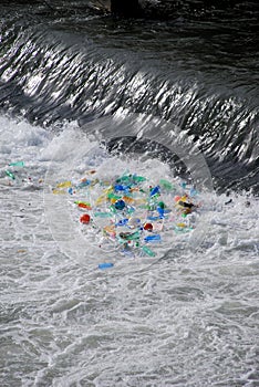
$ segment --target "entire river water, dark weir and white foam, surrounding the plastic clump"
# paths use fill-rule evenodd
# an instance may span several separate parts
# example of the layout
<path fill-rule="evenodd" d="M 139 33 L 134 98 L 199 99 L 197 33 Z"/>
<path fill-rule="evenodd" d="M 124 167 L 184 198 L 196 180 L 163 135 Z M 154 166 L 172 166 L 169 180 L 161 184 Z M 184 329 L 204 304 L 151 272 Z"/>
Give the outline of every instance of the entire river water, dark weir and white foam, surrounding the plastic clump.
<path fill-rule="evenodd" d="M 256 6 L 52 7 L 1 6 L 0 385 L 259 386 Z M 196 230 L 155 257 L 93 247 L 51 191 L 91 168 L 191 179 Z"/>

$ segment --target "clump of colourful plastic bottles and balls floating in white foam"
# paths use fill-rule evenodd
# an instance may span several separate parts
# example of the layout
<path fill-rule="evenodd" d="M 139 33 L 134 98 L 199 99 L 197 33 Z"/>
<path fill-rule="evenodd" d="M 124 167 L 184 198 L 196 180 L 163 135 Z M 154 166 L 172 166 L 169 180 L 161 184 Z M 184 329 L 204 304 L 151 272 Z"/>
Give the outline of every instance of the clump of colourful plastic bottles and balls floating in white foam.
<path fill-rule="evenodd" d="M 80 181 L 58 181 L 52 192 L 68 195 L 81 231 L 99 248 L 132 258 L 155 257 L 168 234 L 186 238 L 194 230 L 193 215 L 200 202 L 190 184 L 164 178 L 151 182 L 130 172 L 107 179 L 95 177 L 95 170 L 89 175 Z"/>

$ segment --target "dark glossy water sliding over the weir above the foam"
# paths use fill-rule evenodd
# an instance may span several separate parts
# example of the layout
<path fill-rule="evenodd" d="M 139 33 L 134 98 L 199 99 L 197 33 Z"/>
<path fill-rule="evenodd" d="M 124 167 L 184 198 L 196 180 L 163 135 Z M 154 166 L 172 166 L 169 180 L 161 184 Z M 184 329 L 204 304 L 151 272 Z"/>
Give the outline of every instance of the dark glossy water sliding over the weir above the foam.
<path fill-rule="evenodd" d="M 258 194 L 257 3 L 167 20 L 155 6 L 126 20 L 87 3 L 1 2 L 1 111 L 55 130 L 117 113 L 167 121 L 203 151 L 217 188 Z"/>

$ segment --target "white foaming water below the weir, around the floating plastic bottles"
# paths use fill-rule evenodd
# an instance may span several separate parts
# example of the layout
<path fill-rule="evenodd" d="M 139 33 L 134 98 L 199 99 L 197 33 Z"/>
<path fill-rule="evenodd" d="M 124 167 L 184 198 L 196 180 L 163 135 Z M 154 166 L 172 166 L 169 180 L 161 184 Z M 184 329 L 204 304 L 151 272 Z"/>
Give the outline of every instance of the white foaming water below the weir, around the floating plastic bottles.
<path fill-rule="evenodd" d="M 259 386 L 258 200 L 210 194 L 195 249 L 172 236 L 156 259 L 114 257 L 101 271 L 105 251 L 85 241 L 80 250 L 74 224 L 74 254 L 64 251 L 44 200 L 45 174 L 73 169 L 76 151 L 65 144 L 76 130 L 68 124 L 54 135 L 0 117 L 0 385 Z M 158 161 L 105 161 L 107 174 L 125 165 L 168 174 Z M 71 219 L 61 222 L 65 232 Z"/>

